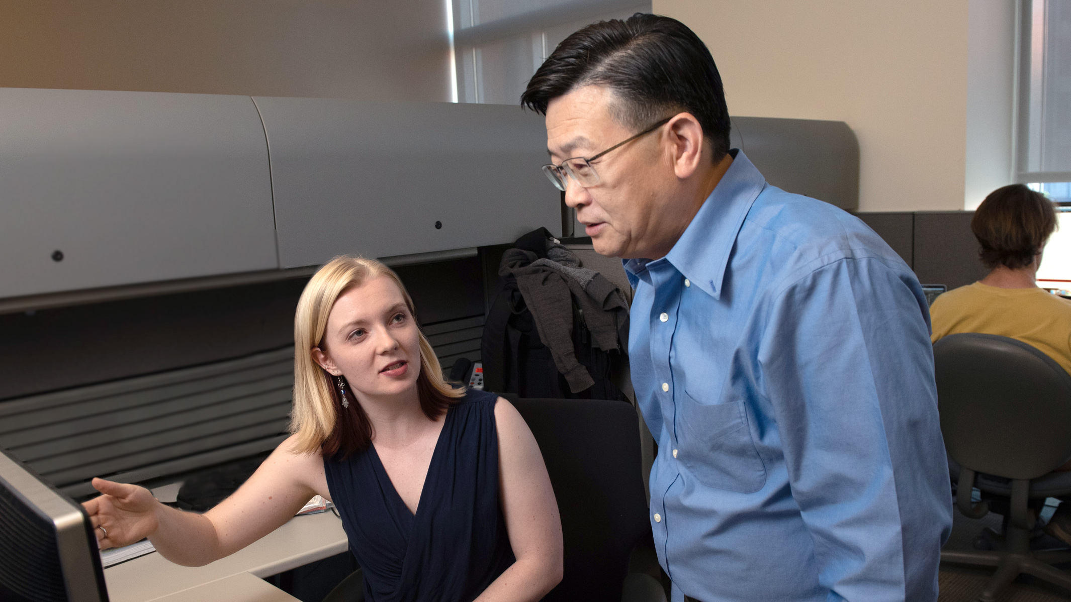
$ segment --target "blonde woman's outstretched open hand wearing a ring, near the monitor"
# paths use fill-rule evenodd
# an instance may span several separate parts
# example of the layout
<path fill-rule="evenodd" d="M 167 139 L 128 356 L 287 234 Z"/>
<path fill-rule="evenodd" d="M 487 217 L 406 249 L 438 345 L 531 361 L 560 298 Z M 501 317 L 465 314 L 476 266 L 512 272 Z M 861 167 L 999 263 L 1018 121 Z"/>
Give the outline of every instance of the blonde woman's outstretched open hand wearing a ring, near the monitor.
<path fill-rule="evenodd" d="M 104 479 L 93 479 L 92 484 L 104 495 L 82 503 L 82 507 L 93 523 L 101 550 L 130 545 L 156 530 L 156 512 L 162 505 L 149 490 Z"/>

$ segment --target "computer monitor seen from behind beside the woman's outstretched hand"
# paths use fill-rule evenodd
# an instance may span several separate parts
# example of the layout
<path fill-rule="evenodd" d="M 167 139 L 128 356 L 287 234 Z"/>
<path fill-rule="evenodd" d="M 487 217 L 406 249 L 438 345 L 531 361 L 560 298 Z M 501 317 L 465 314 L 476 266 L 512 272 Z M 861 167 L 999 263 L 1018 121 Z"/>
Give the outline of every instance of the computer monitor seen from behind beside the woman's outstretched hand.
<path fill-rule="evenodd" d="M 2 449 L 0 600 L 108 600 L 89 515 Z"/>

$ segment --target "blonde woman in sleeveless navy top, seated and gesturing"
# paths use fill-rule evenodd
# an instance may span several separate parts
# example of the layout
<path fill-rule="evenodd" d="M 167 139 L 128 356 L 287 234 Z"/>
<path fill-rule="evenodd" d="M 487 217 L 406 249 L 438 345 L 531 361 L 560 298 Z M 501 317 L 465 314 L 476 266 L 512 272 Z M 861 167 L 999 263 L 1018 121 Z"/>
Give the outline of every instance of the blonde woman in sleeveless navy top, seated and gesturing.
<path fill-rule="evenodd" d="M 102 548 L 148 537 L 207 565 L 334 501 L 369 601 L 539 600 L 560 580 L 561 524 L 539 447 L 509 402 L 442 379 L 405 287 L 382 264 L 336 257 L 295 318 L 292 435 L 205 514 L 94 479 Z"/>

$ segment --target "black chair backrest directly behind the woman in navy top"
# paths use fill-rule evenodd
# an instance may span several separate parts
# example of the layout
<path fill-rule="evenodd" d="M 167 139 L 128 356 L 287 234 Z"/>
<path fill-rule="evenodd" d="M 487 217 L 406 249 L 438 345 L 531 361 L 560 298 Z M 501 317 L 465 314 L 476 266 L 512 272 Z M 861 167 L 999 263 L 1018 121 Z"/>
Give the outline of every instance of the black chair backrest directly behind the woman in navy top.
<path fill-rule="evenodd" d="M 564 576 L 543 600 L 620 602 L 629 555 L 650 530 L 631 404 L 517 400 L 558 498 Z"/>

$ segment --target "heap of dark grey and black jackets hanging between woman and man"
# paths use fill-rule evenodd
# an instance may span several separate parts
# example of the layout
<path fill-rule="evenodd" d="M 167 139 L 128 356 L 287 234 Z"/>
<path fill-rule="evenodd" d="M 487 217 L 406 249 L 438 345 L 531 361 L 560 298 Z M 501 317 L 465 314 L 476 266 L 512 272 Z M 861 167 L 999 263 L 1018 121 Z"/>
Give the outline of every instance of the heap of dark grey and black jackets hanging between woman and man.
<path fill-rule="evenodd" d="M 568 262 L 567 253 L 546 228 L 539 228 L 502 256 L 480 346 L 484 389 L 533 398 L 628 401 L 615 385 L 628 349 L 628 304 L 601 274 L 586 271 L 593 277 L 577 280 L 570 274 L 585 270 L 570 272 L 539 261 L 556 257 Z M 572 260 L 579 265 L 575 256 Z M 528 280 L 518 283 L 518 275 Z M 537 299 L 526 299 L 523 288 Z M 540 322 L 550 330 L 546 342 Z"/>

